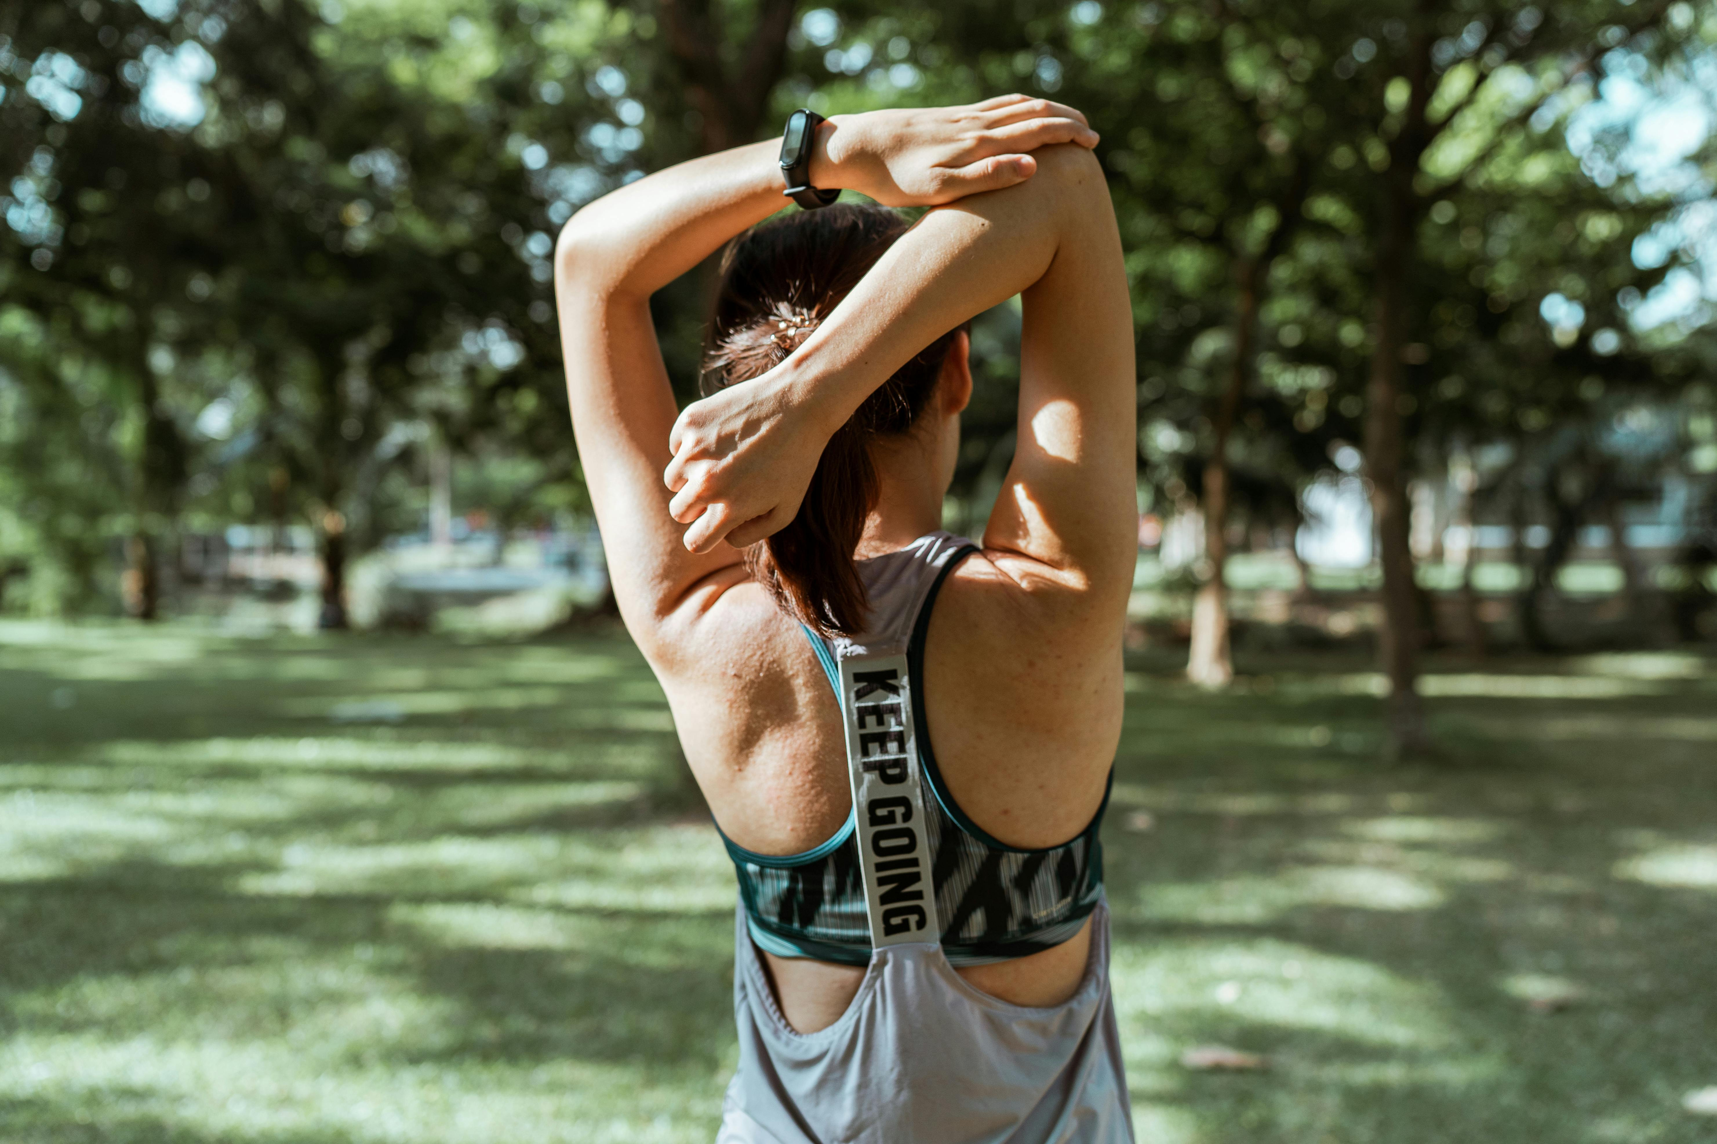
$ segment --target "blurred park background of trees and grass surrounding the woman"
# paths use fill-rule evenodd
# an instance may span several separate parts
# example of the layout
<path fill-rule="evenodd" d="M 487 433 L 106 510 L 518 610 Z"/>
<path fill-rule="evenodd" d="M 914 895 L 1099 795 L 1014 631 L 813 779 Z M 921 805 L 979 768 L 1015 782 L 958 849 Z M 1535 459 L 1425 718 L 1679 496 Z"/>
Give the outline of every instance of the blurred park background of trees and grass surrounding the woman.
<path fill-rule="evenodd" d="M 558 226 L 1082 108 L 1128 250 L 1140 1139 L 1717 1115 L 1717 7 L 0 5 L 0 1137 L 707 1141 L 731 875 Z M 706 266 L 654 304 L 682 398 Z M 944 520 L 1013 451 L 980 316 Z"/>

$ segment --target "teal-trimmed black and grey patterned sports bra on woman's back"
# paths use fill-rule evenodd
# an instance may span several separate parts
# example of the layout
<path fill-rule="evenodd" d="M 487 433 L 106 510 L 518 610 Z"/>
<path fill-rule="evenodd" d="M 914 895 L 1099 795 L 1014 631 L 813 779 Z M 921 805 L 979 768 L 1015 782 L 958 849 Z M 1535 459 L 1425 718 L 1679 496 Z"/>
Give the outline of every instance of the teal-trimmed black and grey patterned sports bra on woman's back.
<path fill-rule="evenodd" d="M 841 693 L 838 660 L 848 645 L 910 638 L 907 676 L 912 683 L 912 722 L 924 786 L 934 918 L 941 945 L 955 966 L 1025 957 L 1078 933 L 1102 897 L 1102 844 L 1097 837 L 1109 791 L 1090 823 L 1061 846 L 1025 849 L 998 842 L 955 803 L 936 767 L 924 712 L 924 636 L 931 607 L 948 573 L 977 551 L 970 540 L 932 532 L 898 552 L 858 561 L 871 599 L 867 633 L 848 641 L 824 641 L 805 629 Z M 1109 772 L 1109 786 L 1114 772 Z M 834 837 L 802 854 L 757 854 L 721 835 L 738 873 L 752 940 L 778 957 L 864 966 L 871 960 L 871 914 L 860 868 L 857 811 Z M 718 834 L 721 827 L 716 827 Z"/>

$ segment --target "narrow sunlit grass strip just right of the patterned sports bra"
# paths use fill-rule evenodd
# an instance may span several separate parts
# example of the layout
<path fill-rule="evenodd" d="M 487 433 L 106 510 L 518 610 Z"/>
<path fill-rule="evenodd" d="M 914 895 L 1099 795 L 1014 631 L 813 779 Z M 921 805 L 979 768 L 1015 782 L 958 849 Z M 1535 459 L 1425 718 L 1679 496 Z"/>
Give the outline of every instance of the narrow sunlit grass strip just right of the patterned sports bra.
<path fill-rule="evenodd" d="M 1434 883 L 1377 866 L 1300 866 L 1281 875 L 1221 882 L 1159 882 L 1140 887 L 1142 914 L 1152 921 L 1269 924 L 1296 909 L 1334 906 L 1405 912 L 1435 909 Z"/>

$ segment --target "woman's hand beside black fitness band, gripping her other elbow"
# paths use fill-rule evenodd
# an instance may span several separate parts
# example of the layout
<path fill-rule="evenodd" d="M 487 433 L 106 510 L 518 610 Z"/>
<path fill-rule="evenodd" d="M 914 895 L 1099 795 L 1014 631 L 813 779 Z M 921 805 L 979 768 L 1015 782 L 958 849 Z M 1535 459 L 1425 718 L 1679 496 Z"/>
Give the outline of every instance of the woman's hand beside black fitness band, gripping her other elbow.
<path fill-rule="evenodd" d="M 1097 146 L 1077 110 L 1049 99 L 998 96 L 958 108 L 836 115 L 817 132 L 810 180 L 884 206 L 941 206 L 1025 182 L 1030 156 L 1056 142 Z"/>

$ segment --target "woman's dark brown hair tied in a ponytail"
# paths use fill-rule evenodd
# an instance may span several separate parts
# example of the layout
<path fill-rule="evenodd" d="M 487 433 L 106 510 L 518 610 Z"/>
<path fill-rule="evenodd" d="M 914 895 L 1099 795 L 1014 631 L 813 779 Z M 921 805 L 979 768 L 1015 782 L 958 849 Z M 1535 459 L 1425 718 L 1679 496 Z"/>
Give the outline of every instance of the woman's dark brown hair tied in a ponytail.
<path fill-rule="evenodd" d="M 838 202 L 737 238 L 721 261 L 704 394 L 785 362 L 903 233 L 907 221 L 888 208 Z M 793 521 L 745 549 L 745 566 L 774 602 L 824 636 L 857 635 L 869 612 L 853 561 L 877 497 L 869 443 L 905 434 L 919 420 L 955 333 L 937 338 L 865 398 L 822 449 Z"/>

